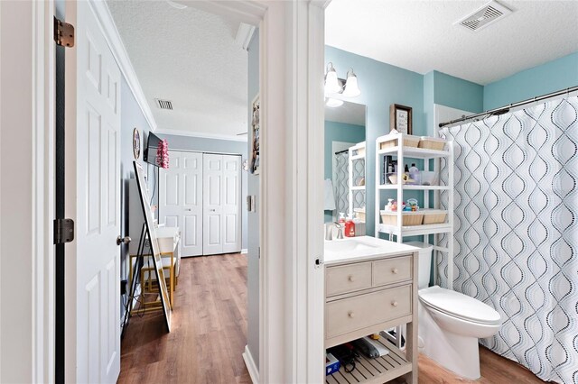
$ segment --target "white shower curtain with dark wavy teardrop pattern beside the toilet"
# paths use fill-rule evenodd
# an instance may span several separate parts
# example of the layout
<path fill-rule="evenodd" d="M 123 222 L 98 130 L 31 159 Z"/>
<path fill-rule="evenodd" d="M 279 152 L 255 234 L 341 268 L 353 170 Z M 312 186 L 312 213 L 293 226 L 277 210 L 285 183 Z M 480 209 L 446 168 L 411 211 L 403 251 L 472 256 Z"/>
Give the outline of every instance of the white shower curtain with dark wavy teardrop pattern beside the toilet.
<path fill-rule="evenodd" d="M 454 164 L 442 163 L 442 175 L 454 167 L 453 289 L 503 322 L 480 343 L 540 379 L 578 383 L 578 97 L 440 134 L 454 142 Z"/>

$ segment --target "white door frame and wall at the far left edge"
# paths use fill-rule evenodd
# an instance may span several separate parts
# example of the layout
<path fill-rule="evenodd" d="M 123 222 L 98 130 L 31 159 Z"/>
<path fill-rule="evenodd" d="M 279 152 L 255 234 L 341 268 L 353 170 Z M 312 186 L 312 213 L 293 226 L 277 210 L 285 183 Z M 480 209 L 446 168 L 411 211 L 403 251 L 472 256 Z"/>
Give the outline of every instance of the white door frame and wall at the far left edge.
<path fill-rule="evenodd" d="M 1 382 L 54 380 L 53 10 L 52 0 L 0 2 Z M 16 151 L 4 151 L 10 142 Z"/>

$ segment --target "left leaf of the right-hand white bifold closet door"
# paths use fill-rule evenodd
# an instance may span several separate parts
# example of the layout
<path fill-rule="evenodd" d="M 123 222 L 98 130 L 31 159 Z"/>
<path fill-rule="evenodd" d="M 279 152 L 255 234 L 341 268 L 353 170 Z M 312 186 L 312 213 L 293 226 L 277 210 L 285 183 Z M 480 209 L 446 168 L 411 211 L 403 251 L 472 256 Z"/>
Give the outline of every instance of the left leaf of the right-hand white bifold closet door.
<path fill-rule="evenodd" d="M 223 156 L 203 154 L 203 254 L 223 253 Z"/>

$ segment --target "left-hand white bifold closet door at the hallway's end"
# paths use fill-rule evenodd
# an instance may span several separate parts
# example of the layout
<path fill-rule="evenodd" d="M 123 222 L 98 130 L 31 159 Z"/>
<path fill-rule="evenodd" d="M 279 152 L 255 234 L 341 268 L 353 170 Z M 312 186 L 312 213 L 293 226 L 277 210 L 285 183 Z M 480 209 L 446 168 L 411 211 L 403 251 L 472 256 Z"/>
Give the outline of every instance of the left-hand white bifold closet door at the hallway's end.
<path fill-rule="evenodd" d="M 202 254 L 202 153 L 169 151 L 161 169 L 159 223 L 181 231 L 182 256 Z"/>

